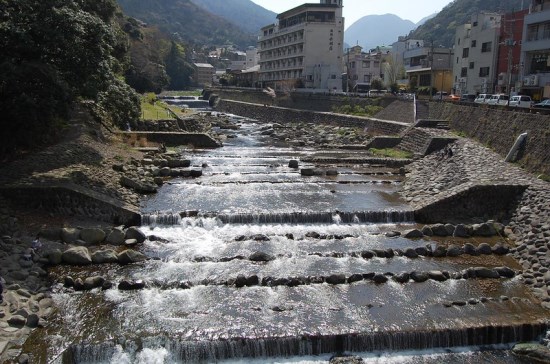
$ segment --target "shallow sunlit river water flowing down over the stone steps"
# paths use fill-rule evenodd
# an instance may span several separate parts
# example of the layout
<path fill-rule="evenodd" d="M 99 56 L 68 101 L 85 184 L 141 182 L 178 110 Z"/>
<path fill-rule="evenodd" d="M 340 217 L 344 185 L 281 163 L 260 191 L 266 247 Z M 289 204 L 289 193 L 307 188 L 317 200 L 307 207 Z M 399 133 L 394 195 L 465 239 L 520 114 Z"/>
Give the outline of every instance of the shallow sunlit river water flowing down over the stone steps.
<path fill-rule="evenodd" d="M 447 242 L 387 234 L 416 227 L 397 193 L 398 170 L 342 162 L 316 166 L 338 175 L 303 177 L 289 160 L 345 161 L 364 152 L 291 148 L 239 120 L 223 148 L 184 152 L 194 168 L 203 166 L 201 178 L 173 180 L 143 202 L 142 229 L 153 237 L 141 251 L 151 260 L 56 269 L 59 277 L 97 274 L 115 285 L 141 279 L 146 288 L 58 287 L 57 319 L 28 343 L 37 358 L 321 363 L 353 352 L 372 363 L 517 363 L 501 349 L 545 332 L 545 312 L 518 278 L 375 284 L 376 273 L 520 267 L 498 256 L 363 257 L 366 249 Z M 269 261 L 252 261 L 254 253 Z M 325 282 L 331 275 L 348 280 Z M 349 283 L 352 275 L 359 278 Z M 246 282 L 239 285 L 239 276 Z"/>

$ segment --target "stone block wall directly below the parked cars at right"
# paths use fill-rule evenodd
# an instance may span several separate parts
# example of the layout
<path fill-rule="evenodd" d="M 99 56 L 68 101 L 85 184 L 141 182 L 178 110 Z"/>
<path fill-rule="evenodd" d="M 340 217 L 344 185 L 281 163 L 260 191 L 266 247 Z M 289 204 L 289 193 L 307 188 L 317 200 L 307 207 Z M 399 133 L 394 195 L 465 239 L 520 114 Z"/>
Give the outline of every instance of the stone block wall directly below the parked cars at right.
<path fill-rule="evenodd" d="M 449 120 L 453 130 L 477 139 L 503 158 L 516 138 L 528 133 L 518 162 L 534 174 L 550 175 L 550 115 L 432 102 L 430 118 Z"/>

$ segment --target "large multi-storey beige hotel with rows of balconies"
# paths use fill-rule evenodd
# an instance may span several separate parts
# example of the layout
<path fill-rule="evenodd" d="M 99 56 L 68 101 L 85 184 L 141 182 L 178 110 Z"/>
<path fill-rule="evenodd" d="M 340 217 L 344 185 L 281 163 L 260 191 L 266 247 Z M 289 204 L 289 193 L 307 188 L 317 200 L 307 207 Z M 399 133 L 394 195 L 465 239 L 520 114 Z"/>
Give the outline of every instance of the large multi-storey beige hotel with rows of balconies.
<path fill-rule="evenodd" d="M 259 81 L 263 87 L 342 90 L 343 0 L 320 0 L 277 15 L 261 29 Z"/>

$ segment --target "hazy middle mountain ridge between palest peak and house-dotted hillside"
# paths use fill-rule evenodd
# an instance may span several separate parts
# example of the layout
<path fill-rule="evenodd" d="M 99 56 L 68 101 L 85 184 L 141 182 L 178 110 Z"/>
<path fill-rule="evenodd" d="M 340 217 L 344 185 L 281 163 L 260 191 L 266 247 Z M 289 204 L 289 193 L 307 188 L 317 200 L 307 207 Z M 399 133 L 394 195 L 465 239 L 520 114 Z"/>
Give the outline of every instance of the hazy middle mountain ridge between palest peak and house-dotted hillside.
<path fill-rule="evenodd" d="M 257 37 L 212 14 L 191 0 L 117 0 L 126 15 L 177 34 L 190 44 L 227 45 L 242 48 L 256 45 Z M 202 0 L 201 0 L 202 1 Z"/>

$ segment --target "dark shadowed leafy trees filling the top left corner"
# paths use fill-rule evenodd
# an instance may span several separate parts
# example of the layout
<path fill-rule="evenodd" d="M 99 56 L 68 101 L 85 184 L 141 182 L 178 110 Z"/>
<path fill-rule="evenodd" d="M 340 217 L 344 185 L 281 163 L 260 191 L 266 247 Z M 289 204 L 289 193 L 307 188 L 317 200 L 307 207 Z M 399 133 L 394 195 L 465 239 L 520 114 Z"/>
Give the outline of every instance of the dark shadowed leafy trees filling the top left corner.
<path fill-rule="evenodd" d="M 54 139 L 71 106 L 125 126 L 139 97 L 121 77 L 127 37 L 115 0 L 0 1 L 0 155 Z"/>

